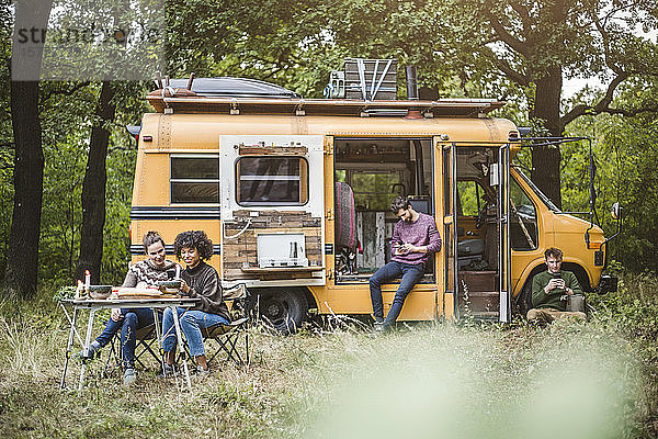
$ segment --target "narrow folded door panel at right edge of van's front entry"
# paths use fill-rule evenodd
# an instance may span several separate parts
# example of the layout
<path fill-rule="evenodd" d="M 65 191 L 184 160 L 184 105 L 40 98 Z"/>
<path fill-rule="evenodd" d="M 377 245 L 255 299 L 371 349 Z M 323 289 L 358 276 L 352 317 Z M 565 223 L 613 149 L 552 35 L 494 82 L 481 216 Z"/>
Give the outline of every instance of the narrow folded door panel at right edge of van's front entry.
<path fill-rule="evenodd" d="M 500 292 L 499 322 L 510 322 L 511 305 L 511 245 L 510 245 L 510 145 L 498 150 L 498 291 Z"/>

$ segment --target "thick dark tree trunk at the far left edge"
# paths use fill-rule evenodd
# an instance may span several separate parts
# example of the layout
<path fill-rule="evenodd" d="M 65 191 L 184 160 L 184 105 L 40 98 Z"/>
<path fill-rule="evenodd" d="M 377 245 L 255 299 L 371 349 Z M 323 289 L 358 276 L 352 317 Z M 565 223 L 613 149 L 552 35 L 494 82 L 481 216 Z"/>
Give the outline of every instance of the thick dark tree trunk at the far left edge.
<path fill-rule="evenodd" d="M 3 288 L 10 297 L 36 293 L 44 185 L 44 151 L 38 113 L 43 43 L 53 0 L 15 2 L 12 36 L 11 123 L 15 143 L 14 205 Z M 36 30 L 23 41 L 19 30 Z M 39 32 L 43 31 L 43 32 Z"/>

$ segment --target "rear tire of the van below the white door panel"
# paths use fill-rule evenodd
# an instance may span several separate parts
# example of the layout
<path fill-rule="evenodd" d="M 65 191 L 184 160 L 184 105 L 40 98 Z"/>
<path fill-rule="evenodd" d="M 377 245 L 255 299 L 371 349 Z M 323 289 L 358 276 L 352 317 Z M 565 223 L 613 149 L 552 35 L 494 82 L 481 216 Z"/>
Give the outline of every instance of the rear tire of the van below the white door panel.
<path fill-rule="evenodd" d="M 308 302 L 303 291 L 263 291 L 259 302 L 260 317 L 284 335 L 296 333 L 308 312 Z"/>

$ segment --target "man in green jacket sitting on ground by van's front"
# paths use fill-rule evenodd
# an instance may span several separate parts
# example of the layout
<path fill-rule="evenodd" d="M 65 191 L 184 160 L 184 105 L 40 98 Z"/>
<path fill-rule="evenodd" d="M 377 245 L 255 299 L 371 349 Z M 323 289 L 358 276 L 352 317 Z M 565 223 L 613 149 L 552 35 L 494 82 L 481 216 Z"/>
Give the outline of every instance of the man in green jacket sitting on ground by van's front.
<path fill-rule="evenodd" d="M 527 312 L 527 320 L 552 323 L 561 317 L 586 319 L 580 312 L 567 312 L 566 295 L 582 294 L 578 279 L 570 271 L 561 269 L 563 251 L 551 247 L 544 251 L 546 271 L 536 274 L 532 280 L 533 308 Z"/>

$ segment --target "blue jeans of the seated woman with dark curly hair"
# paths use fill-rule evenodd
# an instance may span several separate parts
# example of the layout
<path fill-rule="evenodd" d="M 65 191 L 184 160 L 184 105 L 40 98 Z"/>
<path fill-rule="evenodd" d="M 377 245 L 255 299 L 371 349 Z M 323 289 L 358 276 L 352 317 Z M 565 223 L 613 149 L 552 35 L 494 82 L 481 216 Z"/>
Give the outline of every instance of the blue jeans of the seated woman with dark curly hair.
<path fill-rule="evenodd" d="M 179 307 L 177 308 L 177 313 L 181 323 L 181 330 L 185 335 L 188 346 L 190 347 L 190 354 L 192 357 L 205 354 L 201 328 L 208 328 L 217 324 L 229 324 L 229 322 L 220 315 L 205 313 L 203 311 L 186 311 L 185 308 Z M 164 309 L 164 316 L 162 317 L 162 350 L 164 350 L 164 352 L 175 350 L 178 339 L 171 308 Z"/>

